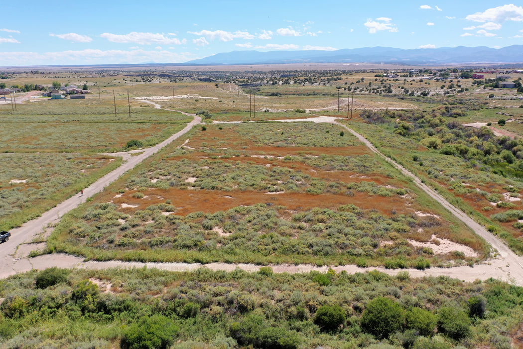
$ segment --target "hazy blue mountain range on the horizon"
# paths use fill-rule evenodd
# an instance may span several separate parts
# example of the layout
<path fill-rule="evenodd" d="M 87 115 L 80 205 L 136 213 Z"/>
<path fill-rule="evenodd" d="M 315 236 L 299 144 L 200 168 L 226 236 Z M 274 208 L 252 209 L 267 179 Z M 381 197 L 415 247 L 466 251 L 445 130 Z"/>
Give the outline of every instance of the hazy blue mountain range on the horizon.
<path fill-rule="evenodd" d="M 364 47 L 336 51 L 233 51 L 185 62 L 184 65 L 235 65 L 282 63 L 401 63 L 425 64 L 492 64 L 523 62 L 523 45 L 501 49 L 480 47 L 442 47 L 438 49 L 395 49 Z"/>

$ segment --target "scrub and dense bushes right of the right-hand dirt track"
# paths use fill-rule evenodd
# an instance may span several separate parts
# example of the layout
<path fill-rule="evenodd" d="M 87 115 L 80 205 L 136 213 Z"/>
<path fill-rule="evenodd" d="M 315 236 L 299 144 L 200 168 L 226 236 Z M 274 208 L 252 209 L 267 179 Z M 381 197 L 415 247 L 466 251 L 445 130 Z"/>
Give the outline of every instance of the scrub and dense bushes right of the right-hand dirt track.
<path fill-rule="evenodd" d="M 427 183 L 444 188 L 452 204 L 522 253 L 523 142 L 456 120 L 476 110 L 481 109 L 459 105 L 429 112 L 363 111 L 367 123 L 351 126 Z"/>

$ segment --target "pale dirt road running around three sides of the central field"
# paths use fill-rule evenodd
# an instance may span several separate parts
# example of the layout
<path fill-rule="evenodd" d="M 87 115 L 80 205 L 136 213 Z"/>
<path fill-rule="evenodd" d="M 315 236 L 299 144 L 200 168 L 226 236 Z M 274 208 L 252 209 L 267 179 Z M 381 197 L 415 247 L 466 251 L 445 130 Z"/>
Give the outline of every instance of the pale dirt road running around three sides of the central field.
<path fill-rule="evenodd" d="M 148 102 L 151 103 L 151 102 Z M 185 114 L 185 113 L 184 113 Z M 188 115 L 188 114 L 186 114 Z M 72 208 L 78 206 L 83 202 L 88 196 L 97 193 L 109 184 L 114 181 L 118 176 L 124 172 L 130 170 L 136 164 L 144 160 L 147 156 L 150 156 L 160 148 L 164 147 L 167 143 L 173 141 L 174 139 L 180 137 L 182 134 L 186 133 L 192 126 L 201 120 L 197 117 L 189 123 L 189 125 L 180 132 L 174 134 L 168 140 L 158 144 L 156 147 L 147 149 L 143 154 L 138 156 L 129 156 L 124 157 L 128 159 L 128 162 L 123 164 L 117 170 L 111 172 L 103 178 L 100 178 L 95 184 L 87 188 L 84 192 L 86 195 L 83 197 L 72 197 L 52 210 L 44 213 L 41 218 L 28 222 L 24 226 L 14 229 L 14 237 L 9 240 L 9 246 L 1 246 L 2 252 L 0 252 L 0 260 L 4 262 L 4 268 L 0 271 L 0 278 L 5 278 L 9 275 L 13 275 L 19 272 L 29 271 L 32 268 L 44 269 L 52 266 L 59 266 L 62 268 L 89 268 L 89 269 L 103 269 L 111 267 L 122 267 L 122 268 L 134 268 L 134 267 L 154 267 L 159 269 L 164 269 L 168 271 L 191 271 L 200 267 L 206 267 L 213 270 L 225 270 L 232 271 L 235 268 L 241 268 L 248 272 L 254 272 L 259 269 L 259 265 L 254 264 L 226 264 L 226 263 L 209 263 L 209 264 L 198 264 L 198 263 L 141 263 L 141 262 L 121 262 L 121 261 L 88 261 L 85 262 L 83 258 L 76 257 L 66 254 L 51 254 L 51 255 L 42 255 L 35 258 L 28 258 L 27 255 L 31 249 L 36 249 L 38 244 L 27 244 L 30 240 L 39 232 L 46 229 L 47 224 L 58 222 L 60 216 L 65 212 L 71 210 Z M 336 123 L 337 125 L 345 128 L 347 131 L 351 132 L 356 136 L 361 142 L 363 142 L 371 151 L 377 153 L 384 157 L 386 161 L 391 163 L 393 166 L 398 168 L 403 174 L 413 178 L 414 183 L 418 185 L 422 190 L 428 193 L 435 200 L 440 202 L 441 205 L 446 207 L 453 215 L 462 220 L 467 224 L 471 229 L 473 229 L 478 235 L 485 239 L 493 249 L 497 251 L 496 258 L 488 260 L 482 264 L 470 266 L 458 266 L 452 268 L 430 268 L 425 271 L 420 271 L 417 269 L 401 269 L 403 271 L 408 271 L 413 277 L 423 277 L 423 276 L 449 276 L 453 278 L 462 279 L 465 281 L 473 281 L 475 279 L 485 280 L 487 278 L 493 277 L 496 279 L 501 279 L 509 283 L 523 286 L 523 260 L 521 257 L 517 256 L 512 252 L 501 240 L 485 230 L 480 224 L 477 224 L 474 220 L 469 218 L 465 213 L 463 213 L 458 208 L 451 205 L 445 198 L 435 192 L 434 189 L 431 189 L 427 185 L 423 184 L 419 178 L 414 174 L 406 170 L 400 164 L 390 160 L 388 157 L 385 157 L 381 154 L 367 139 L 365 139 L 361 134 L 356 131 L 348 128 L 345 125 L 336 122 L 335 117 L 315 117 L 310 119 L 294 119 L 294 120 L 277 120 L 285 122 L 300 122 L 300 121 L 312 121 L 312 122 L 329 122 Z M 24 242 L 26 244 L 24 244 Z M 18 245 L 20 245 L 18 247 Z M 35 247 L 35 248 L 33 248 Z M 8 253 L 6 253 L 8 251 Z M 288 273 L 303 273 L 309 272 L 312 270 L 326 272 L 328 266 L 318 267 L 314 265 L 290 265 L 290 264 L 281 264 L 281 265 L 271 265 L 275 272 L 288 272 Z M 333 267 L 336 272 L 346 271 L 348 273 L 356 273 L 369 271 L 372 269 L 378 269 L 381 272 L 395 275 L 400 272 L 400 269 L 391 270 L 385 268 L 359 268 L 355 265 L 345 265 L 345 266 L 336 266 Z"/>

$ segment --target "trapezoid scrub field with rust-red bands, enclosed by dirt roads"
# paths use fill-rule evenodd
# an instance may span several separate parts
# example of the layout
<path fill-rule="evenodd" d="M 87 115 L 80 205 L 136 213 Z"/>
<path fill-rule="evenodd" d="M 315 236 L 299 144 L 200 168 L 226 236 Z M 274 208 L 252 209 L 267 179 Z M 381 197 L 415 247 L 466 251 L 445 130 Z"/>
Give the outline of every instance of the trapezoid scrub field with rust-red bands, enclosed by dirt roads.
<path fill-rule="evenodd" d="M 101 260 L 392 268 L 485 256 L 462 223 L 342 130 L 313 123 L 195 130 L 59 224 L 50 248 Z M 410 242 L 433 235 L 470 253 L 435 254 Z"/>

